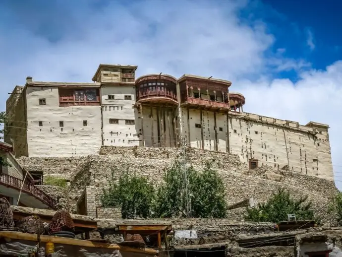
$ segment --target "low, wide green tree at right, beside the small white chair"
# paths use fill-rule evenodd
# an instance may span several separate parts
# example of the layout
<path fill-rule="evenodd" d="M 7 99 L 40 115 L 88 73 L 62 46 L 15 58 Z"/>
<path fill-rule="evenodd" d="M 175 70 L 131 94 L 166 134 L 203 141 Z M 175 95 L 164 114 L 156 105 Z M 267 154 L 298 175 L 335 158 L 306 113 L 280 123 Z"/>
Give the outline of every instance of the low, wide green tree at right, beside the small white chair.
<path fill-rule="evenodd" d="M 295 200 L 289 192 L 279 189 L 273 193 L 266 203 L 259 203 L 255 208 L 247 207 L 245 219 L 257 222 L 280 222 L 288 219 L 287 214 L 295 214 L 297 220 L 311 220 L 314 218 L 311 201 L 307 202 L 307 195 Z"/>

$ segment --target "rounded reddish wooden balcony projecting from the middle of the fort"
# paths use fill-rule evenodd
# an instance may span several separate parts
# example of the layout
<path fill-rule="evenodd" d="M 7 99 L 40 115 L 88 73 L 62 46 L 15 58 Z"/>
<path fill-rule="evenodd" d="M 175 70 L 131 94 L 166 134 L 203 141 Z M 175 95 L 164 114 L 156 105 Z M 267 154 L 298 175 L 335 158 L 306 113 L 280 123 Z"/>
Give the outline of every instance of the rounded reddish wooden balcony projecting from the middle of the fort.
<path fill-rule="evenodd" d="M 176 80 L 170 75 L 145 75 L 135 82 L 137 103 L 177 105 Z"/>

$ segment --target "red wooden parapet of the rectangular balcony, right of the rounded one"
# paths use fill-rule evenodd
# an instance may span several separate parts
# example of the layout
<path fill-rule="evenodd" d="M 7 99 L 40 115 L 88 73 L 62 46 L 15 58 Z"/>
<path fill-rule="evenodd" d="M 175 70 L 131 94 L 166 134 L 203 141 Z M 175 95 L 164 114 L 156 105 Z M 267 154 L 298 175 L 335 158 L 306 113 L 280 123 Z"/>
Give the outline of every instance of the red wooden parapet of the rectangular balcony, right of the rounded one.
<path fill-rule="evenodd" d="M 201 99 L 196 97 L 186 97 L 181 106 L 189 107 L 191 109 L 202 109 L 211 112 L 227 113 L 230 110 L 228 103 L 212 101 L 208 99 Z"/>

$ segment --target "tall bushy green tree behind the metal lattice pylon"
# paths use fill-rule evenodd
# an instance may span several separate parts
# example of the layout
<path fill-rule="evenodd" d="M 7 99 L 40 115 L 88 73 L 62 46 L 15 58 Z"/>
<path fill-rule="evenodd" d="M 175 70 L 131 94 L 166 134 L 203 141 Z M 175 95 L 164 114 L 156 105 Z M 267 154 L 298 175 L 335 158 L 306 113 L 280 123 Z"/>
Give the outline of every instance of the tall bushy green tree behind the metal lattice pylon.
<path fill-rule="evenodd" d="M 224 184 L 212 164 L 208 163 L 202 172 L 192 166 L 187 168 L 191 217 L 224 218 L 227 203 Z M 155 217 L 186 217 L 184 195 L 184 166 L 175 161 L 164 174 L 165 184 L 158 189 Z"/>

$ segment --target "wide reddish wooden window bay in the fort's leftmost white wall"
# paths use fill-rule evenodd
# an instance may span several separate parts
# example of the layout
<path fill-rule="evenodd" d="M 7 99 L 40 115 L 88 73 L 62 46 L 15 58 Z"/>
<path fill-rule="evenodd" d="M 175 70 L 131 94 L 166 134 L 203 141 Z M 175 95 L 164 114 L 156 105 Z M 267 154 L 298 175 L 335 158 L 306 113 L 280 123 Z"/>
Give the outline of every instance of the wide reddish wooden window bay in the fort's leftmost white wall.
<path fill-rule="evenodd" d="M 88 91 L 88 92 L 87 92 Z M 95 91 L 90 93 L 90 91 Z M 95 94 L 94 94 L 95 93 Z M 87 99 L 91 95 L 92 100 Z M 59 106 L 99 106 L 99 88 L 58 88 Z"/>

